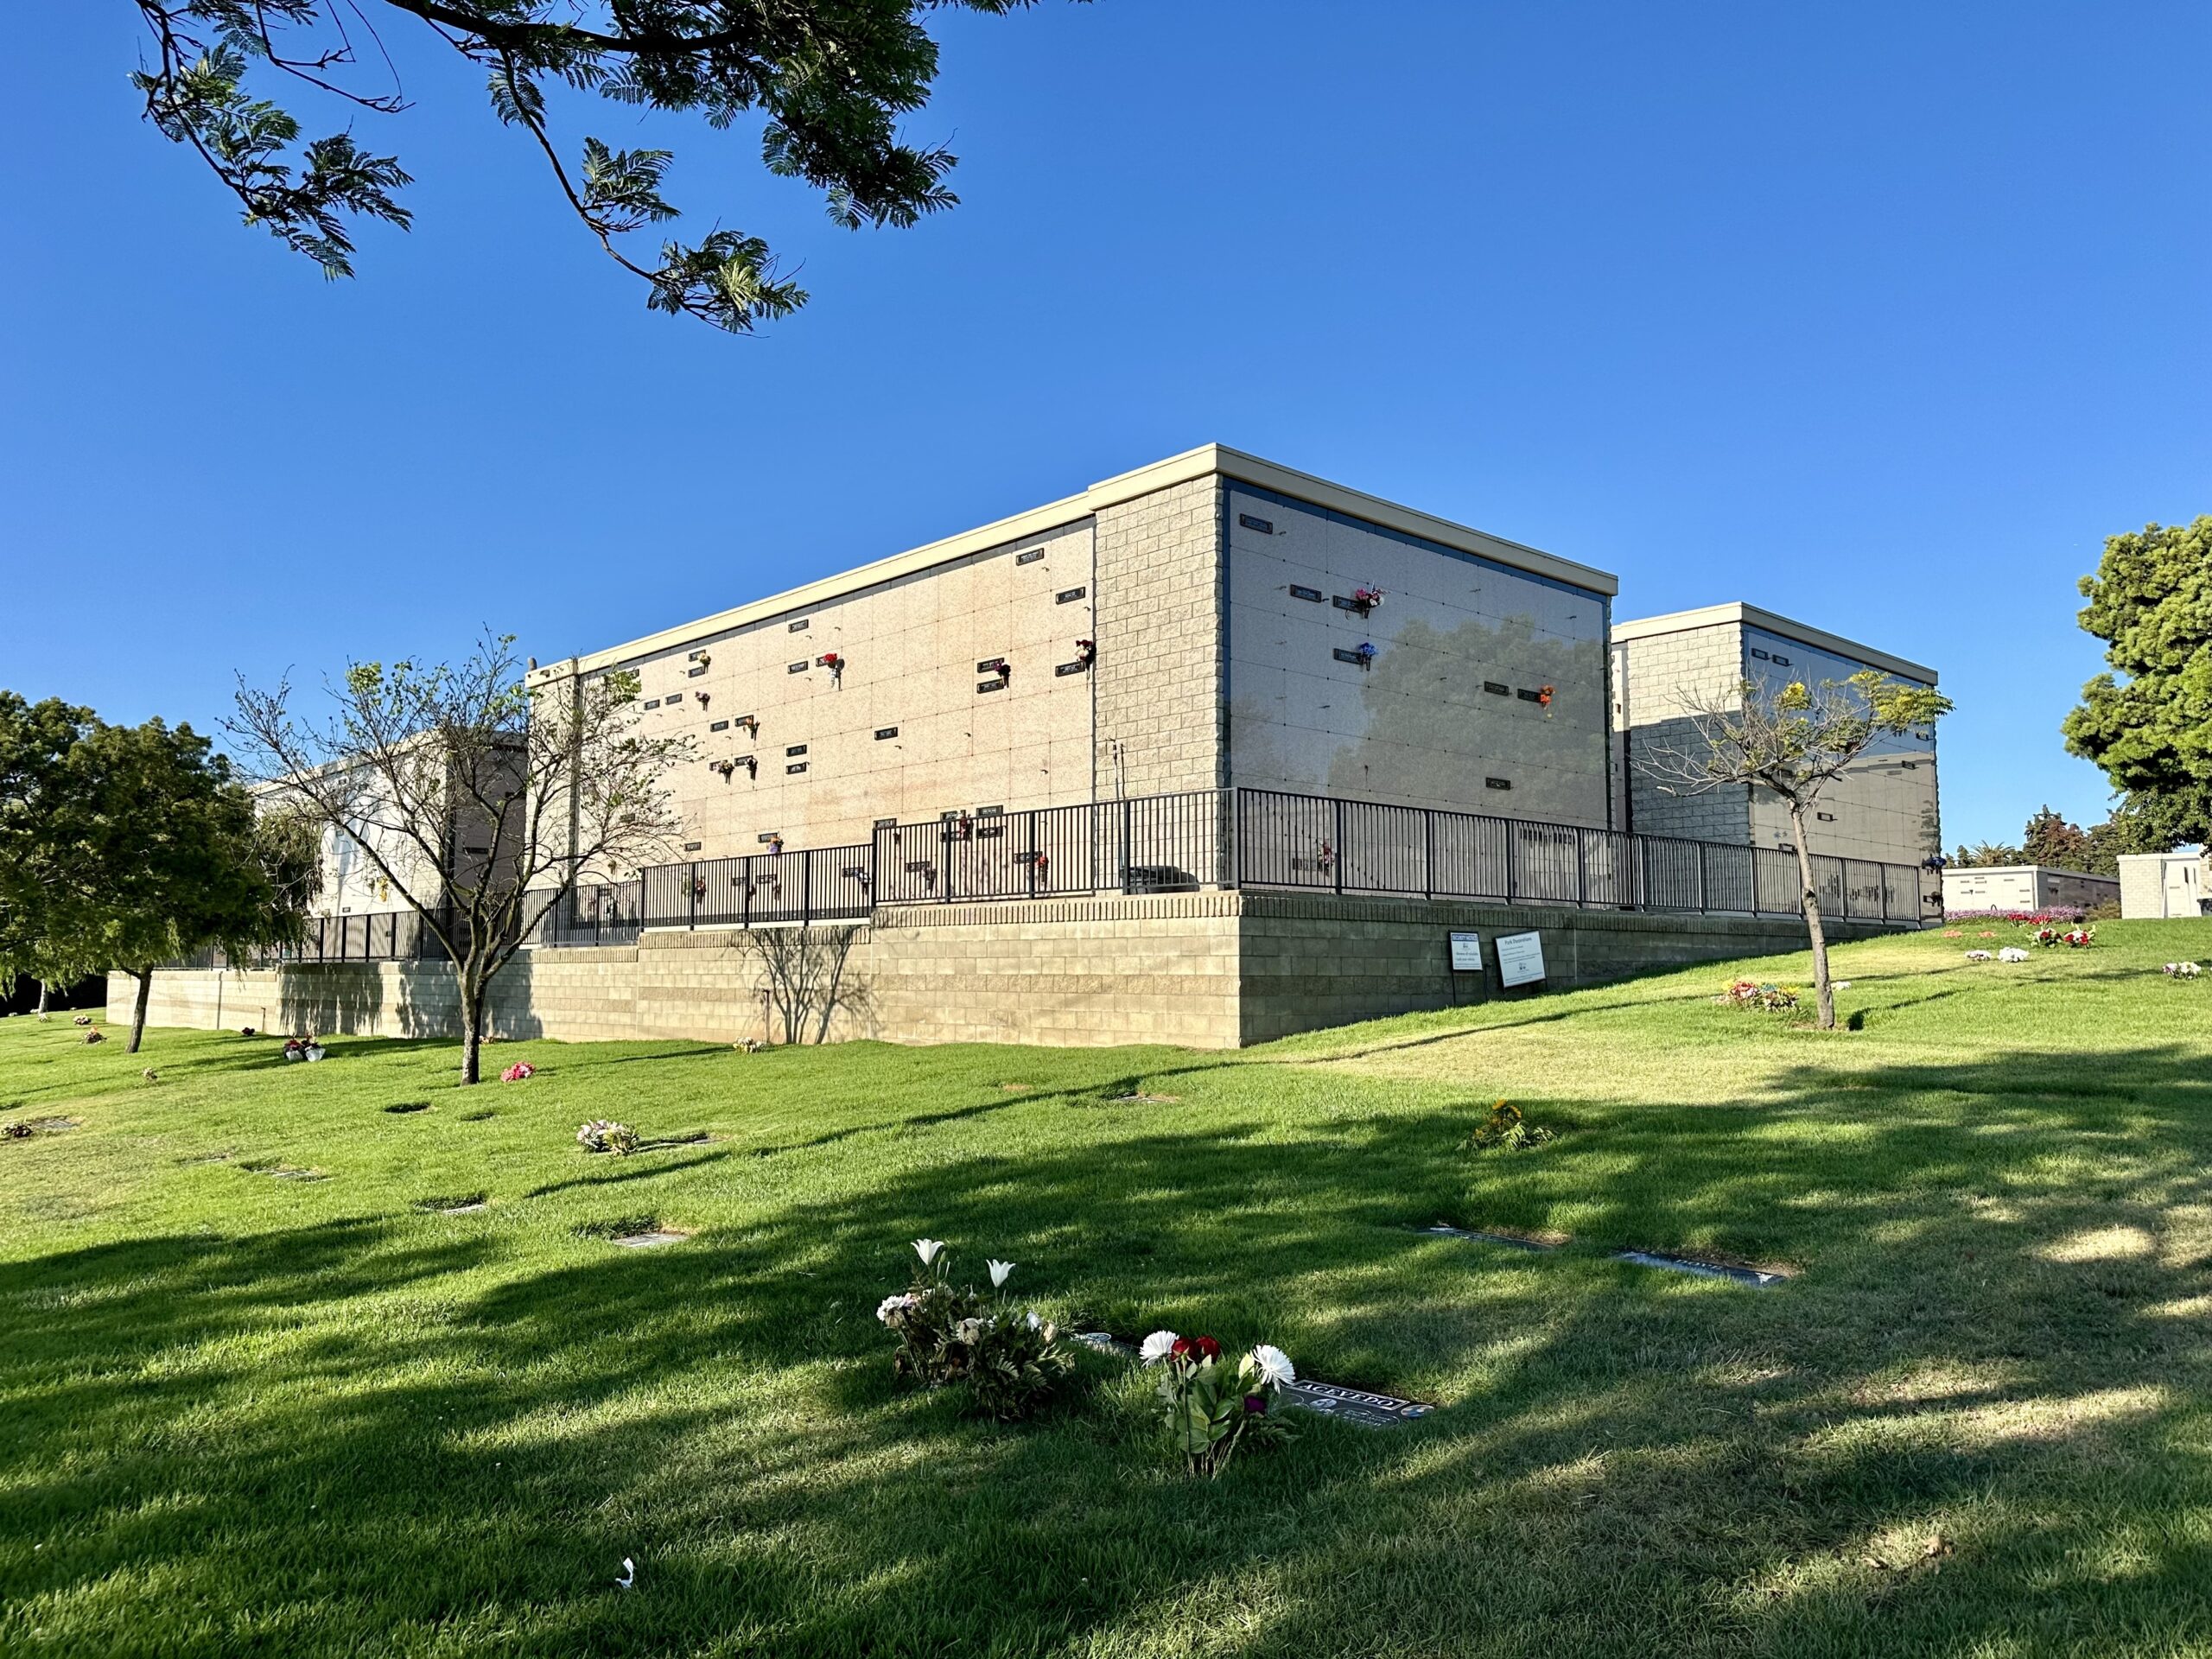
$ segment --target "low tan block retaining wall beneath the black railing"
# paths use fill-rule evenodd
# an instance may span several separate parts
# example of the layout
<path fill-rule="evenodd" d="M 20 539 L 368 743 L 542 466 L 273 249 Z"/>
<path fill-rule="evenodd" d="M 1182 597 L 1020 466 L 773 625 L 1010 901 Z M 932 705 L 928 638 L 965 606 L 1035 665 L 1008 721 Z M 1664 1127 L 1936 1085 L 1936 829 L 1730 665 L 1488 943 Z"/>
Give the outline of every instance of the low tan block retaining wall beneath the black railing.
<path fill-rule="evenodd" d="M 1482 973 L 1451 973 L 1475 931 Z M 1234 1048 L 1292 1031 L 1500 995 L 1495 938 L 1544 938 L 1548 989 L 1794 951 L 1785 920 L 1540 905 L 1159 894 L 883 907 L 812 929 L 650 931 L 637 945 L 522 951 L 493 980 L 500 1037 L 703 1042 L 1166 1042 Z M 1832 922 L 1832 938 L 1880 929 Z M 111 1018 L 133 982 L 111 980 Z M 453 971 L 341 962 L 155 973 L 148 1022 L 387 1037 L 460 1031 Z"/>

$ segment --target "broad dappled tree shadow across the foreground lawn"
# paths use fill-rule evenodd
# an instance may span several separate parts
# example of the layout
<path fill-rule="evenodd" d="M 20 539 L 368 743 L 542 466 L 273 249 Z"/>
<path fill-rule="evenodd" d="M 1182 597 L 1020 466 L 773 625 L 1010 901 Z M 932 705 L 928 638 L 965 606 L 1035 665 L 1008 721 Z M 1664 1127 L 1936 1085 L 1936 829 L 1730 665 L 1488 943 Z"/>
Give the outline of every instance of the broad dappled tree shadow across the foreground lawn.
<path fill-rule="evenodd" d="M 2015 1053 L 1807 1064 L 1756 1106 L 1531 1102 L 1577 1133 L 1480 1157 L 1453 1106 L 1338 1115 L 1343 1077 L 1265 1073 L 1267 1110 L 931 1144 L 836 1199 L 465 1292 L 491 1232 L 20 1263 L 0 1537 L 49 1548 L 0 1544 L 11 1593 L 86 1652 L 170 1617 L 102 1593 L 124 1568 L 188 1586 L 210 1650 L 281 1628 L 294 1652 L 2179 1650 L 2212 1613 L 2172 1520 L 2205 1498 L 2212 1360 L 2163 1312 L 2212 1292 L 2197 1055 L 2101 1055 L 2097 1099 L 2079 1055 Z M 1575 1243 L 1405 1230 L 1438 1214 Z M 1270 1338 L 1447 1411 L 1307 1422 L 1212 1486 L 1104 1360 L 1082 1413 L 973 1425 L 889 1387 L 872 1310 L 922 1234 L 1119 1329 Z M 1750 1294 L 1601 1256 L 1621 1243 L 1805 1276 Z M 1916 1559 L 1938 1535 L 1955 1553 Z M 624 1555 L 635 1595 L 606 1584 Z"/>

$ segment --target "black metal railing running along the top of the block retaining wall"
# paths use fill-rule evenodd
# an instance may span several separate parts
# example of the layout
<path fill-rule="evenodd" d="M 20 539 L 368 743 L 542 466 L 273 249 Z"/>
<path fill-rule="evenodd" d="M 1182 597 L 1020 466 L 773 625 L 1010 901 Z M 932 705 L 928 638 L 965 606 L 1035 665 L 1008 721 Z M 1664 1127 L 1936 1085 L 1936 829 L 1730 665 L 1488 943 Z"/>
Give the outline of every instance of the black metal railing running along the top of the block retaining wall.
<path fill-rule="evenodd" d="M 1820 914 L 1918 927 L 1918 865 L 1816 854 Z M 628 883 L 584 883 L 546 909 L 529 942 L 630 945 L 648 927 L 867 920 L 878 905 L 956 905 L 1086 894 L 1270 891 L 1460 898 L 1717 916 L 1798 916 L 1794 852 L 1489 818 L 1442 807 L 1188 790 L 1029 812 L 894 823 L 849 847 L 650 865 Z M 442 960 L 411 911 L 321 916 L 276 962 Z M 201 951 L 177 967 L 228 967 Z M 243 962 L 241 962 L 243 967 Z"/>

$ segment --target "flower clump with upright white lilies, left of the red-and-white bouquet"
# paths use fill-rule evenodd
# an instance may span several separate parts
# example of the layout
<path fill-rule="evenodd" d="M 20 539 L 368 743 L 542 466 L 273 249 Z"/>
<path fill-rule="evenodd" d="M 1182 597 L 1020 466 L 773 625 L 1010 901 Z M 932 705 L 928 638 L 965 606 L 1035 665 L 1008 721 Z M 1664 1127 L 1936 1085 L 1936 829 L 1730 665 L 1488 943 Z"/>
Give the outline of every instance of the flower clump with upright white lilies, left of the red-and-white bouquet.
<path fill-rule="evenodd" d="M 898 1334 L 894 1376 L 931 1389 L 960 1383 L 975 1407 L 1000 1422 L 1042 1407 L 1075 1356 L 1053 1321 L 1006 1296 L 1015 1263 L 984 1263 L 991 1272 L 984 1294 L 973 1285 L 953 1287 L 942 1239 L 916 1239 L 914 1254 L 920 1256 L 914 1283 L 876 1305 L 876 1318 Z"/>

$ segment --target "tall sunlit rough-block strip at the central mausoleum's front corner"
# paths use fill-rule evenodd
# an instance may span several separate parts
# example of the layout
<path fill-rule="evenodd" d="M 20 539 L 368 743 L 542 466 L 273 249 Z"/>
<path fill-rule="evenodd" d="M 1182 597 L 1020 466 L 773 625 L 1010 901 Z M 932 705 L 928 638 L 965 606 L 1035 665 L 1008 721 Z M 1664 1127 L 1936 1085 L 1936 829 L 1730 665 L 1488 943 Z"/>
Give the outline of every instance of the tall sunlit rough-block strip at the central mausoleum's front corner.
<path fill-rule="evenodd" d="M 1099 801 L 1228 781 L 1221 489 L 1192 478 L 1097 515 Z"/>

